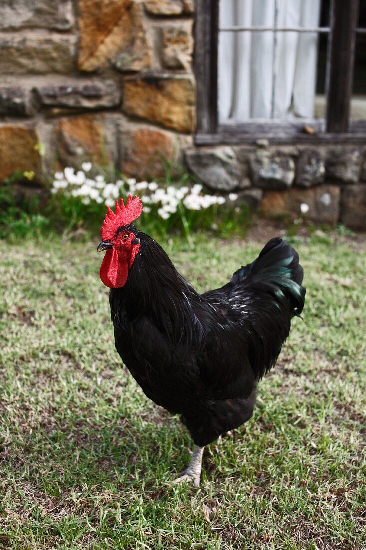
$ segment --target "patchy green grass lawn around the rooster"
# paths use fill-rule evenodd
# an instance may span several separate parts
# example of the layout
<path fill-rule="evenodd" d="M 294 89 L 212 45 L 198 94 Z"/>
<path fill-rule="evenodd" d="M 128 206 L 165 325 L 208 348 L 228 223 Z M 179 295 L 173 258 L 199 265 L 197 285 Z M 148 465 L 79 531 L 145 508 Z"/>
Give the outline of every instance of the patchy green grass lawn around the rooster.
<path fill-rule="evenodd" d="M 0 548 L 366 548 L 366 247 L 293 240 L 303 321 L 199 489 L 169 483 L 190 438 L 121 365 L 97 241 L 0 243 Z M 164 248 L 203 291 L 263 245 Z"/>

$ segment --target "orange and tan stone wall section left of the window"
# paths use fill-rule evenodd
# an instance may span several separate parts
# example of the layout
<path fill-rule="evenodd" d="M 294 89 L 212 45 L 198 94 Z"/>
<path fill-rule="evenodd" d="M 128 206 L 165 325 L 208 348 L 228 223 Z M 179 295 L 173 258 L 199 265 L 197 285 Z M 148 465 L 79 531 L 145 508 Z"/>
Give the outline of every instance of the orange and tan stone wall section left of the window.
<path fill-rule="evenodd" d="M 0 180 L 92 161 L 183 162 L 195 130 L 193 0 L 2 0 Z"/>

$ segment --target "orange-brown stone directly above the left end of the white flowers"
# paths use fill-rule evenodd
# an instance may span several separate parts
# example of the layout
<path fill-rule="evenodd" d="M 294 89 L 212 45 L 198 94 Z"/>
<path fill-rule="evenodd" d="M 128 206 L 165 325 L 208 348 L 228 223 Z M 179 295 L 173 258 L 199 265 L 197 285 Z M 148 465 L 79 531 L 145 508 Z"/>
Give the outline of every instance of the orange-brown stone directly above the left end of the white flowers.
<path fill-rule="evenodd" d="M 62 119 L 55 131 L 61 167 L 80 168 L 83 162 L 106 166 L 113 160 L 108 140 L 113 139 L 114 129 L 107 128 L 103 115 Z"/>

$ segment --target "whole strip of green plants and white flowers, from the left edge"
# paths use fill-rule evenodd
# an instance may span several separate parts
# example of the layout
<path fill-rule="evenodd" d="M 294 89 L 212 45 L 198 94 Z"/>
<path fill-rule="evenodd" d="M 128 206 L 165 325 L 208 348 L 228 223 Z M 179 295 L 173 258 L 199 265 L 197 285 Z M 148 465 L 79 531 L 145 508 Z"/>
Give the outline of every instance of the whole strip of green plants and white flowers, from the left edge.
<path fill-rule="evenodd" d="M 250 224 L 248 208 L 237 195 L 210 194 L 192 174 L 179 164 L 162 159 L 164 178 L 136 182 L 114 169 L 82 164 L 75 171 L 65 168 L 54 174 L 49 200 L 40 201 L 14 192 L 14 184 L 29 184 L 31 172 L 17 173 L 0 187 L 0 238 L 62 234 L 71 239 L 97 235 L 106 213 L 119 197 L 140 196 L 143 214 L 139 227 L 155 238 L 185 235 L 192 246 L 192 233 L 209 231 L 223 237 L 243 235 Z M 29 196 L 29 195 L 28 195 Z"/>

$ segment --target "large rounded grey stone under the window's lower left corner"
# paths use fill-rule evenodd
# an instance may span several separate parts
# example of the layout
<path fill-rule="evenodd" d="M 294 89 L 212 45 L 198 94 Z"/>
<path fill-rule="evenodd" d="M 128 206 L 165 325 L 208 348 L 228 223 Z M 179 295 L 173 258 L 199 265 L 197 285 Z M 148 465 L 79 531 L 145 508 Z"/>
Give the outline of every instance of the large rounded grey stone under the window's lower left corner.
<path fill-rule="evenodd" d="M 190 171 L 215 191 L 234 191 L 239 187 L 240 171 L 231 147 L 185 151 Z"/>

